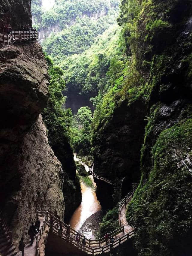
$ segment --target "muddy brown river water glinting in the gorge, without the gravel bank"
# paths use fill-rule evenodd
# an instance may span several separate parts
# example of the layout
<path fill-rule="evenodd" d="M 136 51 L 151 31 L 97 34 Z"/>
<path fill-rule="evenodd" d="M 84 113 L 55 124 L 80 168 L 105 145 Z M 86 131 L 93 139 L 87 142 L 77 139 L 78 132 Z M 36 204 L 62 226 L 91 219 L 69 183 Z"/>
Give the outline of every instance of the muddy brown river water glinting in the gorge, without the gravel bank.
<path fill-rule="evenodd" d="M 76 158 L 76 154 L 74 154 L 74 160 L 80 161 L 80 159 Z M 88 172 L 89 167 L 86 164 L 83 165 L 85 166 L 85 170 Z M 89 188 L 83 182 L 81 182 L 82 202 L 73 213 L 69 222 L 70 226 L 76 231 L 81 228 L 84 221 L 93 213 L 101 211 L 101 205 L 95 193 L 96 184 L 93 181 L 93 176 L 90 175 L 89 177 L 94 184 L 94 188 Z"/>

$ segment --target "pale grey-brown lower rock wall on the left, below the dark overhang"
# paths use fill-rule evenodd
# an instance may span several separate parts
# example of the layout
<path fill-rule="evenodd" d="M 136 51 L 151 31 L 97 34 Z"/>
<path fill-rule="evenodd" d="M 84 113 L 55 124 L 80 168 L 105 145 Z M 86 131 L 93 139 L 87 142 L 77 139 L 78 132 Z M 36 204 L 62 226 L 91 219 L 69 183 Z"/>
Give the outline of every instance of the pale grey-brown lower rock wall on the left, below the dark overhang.
<path fill-rule="evenodd" d="M 21 236 L 27 236 L 37 210 L 54 212 L 56 209 L 58 215 L 64 217 L 62 165 L 48 144 L 41 115 L 22 139 L 14 171 L 15 176 L 19 176 L 18 181 L 14 180 L 15 188 L 19 182 L 18 189 L 7 198 L 4 212 L 11 220 L 14 241 L 18 242 Z"/>

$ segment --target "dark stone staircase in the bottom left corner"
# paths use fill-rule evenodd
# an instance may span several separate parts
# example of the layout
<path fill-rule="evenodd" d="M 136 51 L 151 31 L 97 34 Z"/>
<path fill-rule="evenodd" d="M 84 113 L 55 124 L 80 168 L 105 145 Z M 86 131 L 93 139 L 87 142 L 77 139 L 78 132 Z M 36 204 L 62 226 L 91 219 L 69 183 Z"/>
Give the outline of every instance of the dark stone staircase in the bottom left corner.
<path fill-rule="evenodd" d="M 12 242 L 12 234 L 0 212 L 0 254 L 2 256 L 19 256 Z"/>

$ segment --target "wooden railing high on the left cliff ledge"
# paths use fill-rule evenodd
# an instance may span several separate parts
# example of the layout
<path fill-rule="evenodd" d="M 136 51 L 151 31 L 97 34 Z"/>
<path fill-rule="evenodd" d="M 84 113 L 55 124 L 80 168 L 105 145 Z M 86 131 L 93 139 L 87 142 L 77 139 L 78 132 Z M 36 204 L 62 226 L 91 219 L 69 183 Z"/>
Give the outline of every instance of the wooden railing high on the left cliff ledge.
<path fill-rule="evenodd" d="M 4 35 L 0 33 L 0 43 L 2 44 L 12 44 L 14 42 L 20 41 L 33 41 L 38 39 L 37 31 L 20 31 L 13 30 L 9 35 Z"/>

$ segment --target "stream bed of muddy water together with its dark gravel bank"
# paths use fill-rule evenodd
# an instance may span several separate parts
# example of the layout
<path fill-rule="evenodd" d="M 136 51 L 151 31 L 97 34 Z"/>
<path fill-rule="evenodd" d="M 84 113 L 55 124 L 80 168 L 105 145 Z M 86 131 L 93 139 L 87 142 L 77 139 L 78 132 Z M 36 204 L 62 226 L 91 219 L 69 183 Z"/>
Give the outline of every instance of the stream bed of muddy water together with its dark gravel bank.
<path fill-rule="evenodd" d="M 74 160 L 80 161 L 80 159 L 76 158 L 76 154 L 74 154 Z M 82 165 L 85 166 L 85 170 L 88 172 L 89 167 L 84 163 Z M 94 188 L 87 187 L 81 181 L 82 202 L 73 213 L 69 224 L 87 238 L 95 239 L 95 233 L 98 231 L 98 225 L 101 222 L 103 213 L 95 193 L 96 184 L 93 176 L 90 175 L 89 177 L 93 182 Z"/>

